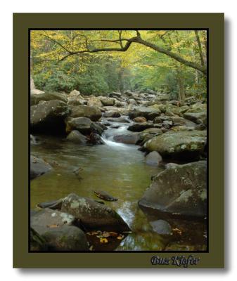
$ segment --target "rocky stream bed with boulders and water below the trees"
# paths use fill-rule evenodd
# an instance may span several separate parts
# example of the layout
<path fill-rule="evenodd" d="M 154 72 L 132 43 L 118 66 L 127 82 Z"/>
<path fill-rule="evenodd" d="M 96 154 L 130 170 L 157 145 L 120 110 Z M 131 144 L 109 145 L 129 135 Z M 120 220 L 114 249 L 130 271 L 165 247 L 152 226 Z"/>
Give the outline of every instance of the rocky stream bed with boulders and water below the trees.
<path fill-rule="evenodd" d="M 206 111 L 153 91 L 32 93 L 31 250 L 204 251 Z"/>

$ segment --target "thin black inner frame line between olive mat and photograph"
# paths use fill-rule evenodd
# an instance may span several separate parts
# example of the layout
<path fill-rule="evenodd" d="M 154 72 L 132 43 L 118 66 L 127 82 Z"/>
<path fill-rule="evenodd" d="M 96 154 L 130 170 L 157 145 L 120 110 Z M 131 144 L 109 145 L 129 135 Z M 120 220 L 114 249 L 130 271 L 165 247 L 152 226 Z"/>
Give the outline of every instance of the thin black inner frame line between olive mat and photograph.
<path fill-rule="evenodd" d="M 31 30 L 205 30 L 207 32 L 207 249 L 205 251 L 31 251 L 30 250 L 30 32 Z M 209 253 L 209 28 L 28 28 L 28 253 Z"/>

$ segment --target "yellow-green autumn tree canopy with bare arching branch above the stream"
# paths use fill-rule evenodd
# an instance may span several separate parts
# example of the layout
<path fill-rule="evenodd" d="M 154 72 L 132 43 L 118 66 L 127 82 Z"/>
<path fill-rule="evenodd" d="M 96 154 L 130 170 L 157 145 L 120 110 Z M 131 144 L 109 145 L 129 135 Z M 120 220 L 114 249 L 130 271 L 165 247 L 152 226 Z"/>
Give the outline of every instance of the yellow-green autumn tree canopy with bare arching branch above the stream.
<path fill-rule="evenodd" d="M 32 30 L 37 88 L 101 94 L 125 89 L 205 94 L 204 30 Z"/>

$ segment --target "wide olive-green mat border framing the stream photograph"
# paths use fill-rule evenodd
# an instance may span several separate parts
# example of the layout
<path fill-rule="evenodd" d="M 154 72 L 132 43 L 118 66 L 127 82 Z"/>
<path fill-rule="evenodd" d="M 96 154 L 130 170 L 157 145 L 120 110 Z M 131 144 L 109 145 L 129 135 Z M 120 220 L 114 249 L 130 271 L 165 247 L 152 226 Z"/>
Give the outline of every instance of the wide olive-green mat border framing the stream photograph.
<path fill-rule="evenodd" d="M 198 28 L 209 34 L 209 252 L 28 252 L 28 36 L 37 28 Z M 189 268 L 224 267 L 224 14 L 223 13 L 15 13 L 13 14 L 13 267 L 179 268 L 152 265 L 152 256 L 193 255 Z M 183 266 L 181 266 L 183 267 Z"/>

